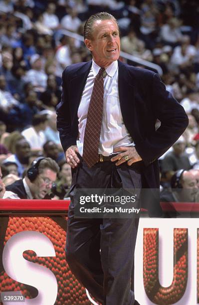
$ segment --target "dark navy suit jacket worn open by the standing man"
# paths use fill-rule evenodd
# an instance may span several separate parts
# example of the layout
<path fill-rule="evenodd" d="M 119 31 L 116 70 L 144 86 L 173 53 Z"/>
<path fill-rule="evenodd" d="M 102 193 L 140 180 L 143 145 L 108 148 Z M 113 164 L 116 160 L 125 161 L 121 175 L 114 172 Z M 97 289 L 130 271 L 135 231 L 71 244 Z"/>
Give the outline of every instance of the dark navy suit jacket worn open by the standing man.
<path fill-rule="evenodd" d="M 68 66 L 62 75 L 62 99 L 57 105 L 57 129 L 64 152 L 76 145 L 77 111 L 92 61 Z M 124 124 L 141 155 L 143 187 L 159 188 L 158 158 L 188 126 L 184 108 L 165 90 L 158 74 L 118 61 L 119 99 Z M 155 131 L 156 120 L 161 127 Z"/>

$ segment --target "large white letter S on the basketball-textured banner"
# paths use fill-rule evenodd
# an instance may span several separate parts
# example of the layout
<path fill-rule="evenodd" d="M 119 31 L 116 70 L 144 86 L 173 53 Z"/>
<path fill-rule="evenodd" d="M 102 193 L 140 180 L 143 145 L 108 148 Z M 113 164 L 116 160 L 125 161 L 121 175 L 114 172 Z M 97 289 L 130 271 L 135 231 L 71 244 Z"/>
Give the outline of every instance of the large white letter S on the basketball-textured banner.
<path fill-rule="evenodd" d="M 4 270 L 13 280 L 38 290 L 38 296 L 34 299 L 25 299 L 25 304 L 53 305 L 57 298 L 56 278 L 49 269 L 26 261 L 23 258 L 23 252 L 26 250 L 34 251 L 39 257 L 56 256 L 53 244 L 44 234 L 36 231 L 19 232 L 4 246 L 2 254 Z M 8 304 L 6 302 L 6 305 Z M 18 302 L 14 304 L 21 305 Z"/>

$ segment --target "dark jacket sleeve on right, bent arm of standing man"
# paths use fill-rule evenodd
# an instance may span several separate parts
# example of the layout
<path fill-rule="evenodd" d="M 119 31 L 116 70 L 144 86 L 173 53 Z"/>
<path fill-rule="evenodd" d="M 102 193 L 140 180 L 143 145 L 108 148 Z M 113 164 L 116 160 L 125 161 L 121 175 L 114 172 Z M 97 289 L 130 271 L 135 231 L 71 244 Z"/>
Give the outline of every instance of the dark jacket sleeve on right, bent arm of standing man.
<path fill-rule="evenodd" d="M 156 73 L 153 75 L 151 105 L 154 116 L 161 121 L 161 126 L 146 139 L 136 143 L 137 152 L 146 166 L 164 154 L 184 133 L 189 123 L 184 108 L 166 90 Z"/>

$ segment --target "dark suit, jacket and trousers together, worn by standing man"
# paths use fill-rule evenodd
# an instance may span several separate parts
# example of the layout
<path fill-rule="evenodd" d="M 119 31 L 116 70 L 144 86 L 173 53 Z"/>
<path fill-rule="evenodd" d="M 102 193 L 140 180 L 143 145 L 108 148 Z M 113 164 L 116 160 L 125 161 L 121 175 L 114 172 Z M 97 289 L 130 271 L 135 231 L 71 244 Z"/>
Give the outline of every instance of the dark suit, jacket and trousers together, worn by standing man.
<path fill-rule="evenodd" d="M 57 129 L 64 152 L 76 145 L 77 111 L 91 65 L 92 61 L 68 66 L 62 75 Z M 159 188 L 158 157 L 185 131 L 188 117 L 154 72 L 118 61 L 118 89 L 123 121 L 142 161 L 131 166 L 99 162 L 88 168 L 81 158 L 72 170 L 66 259 L 76 278 L 102 304 L 133 305 L 130 278 L 139 220 L 74 218 L 75 189 Z M 157 119 L 161 126 L 156 131 Z M 150 215 L 161 215 L 157 200 L 147 208 Z"/>

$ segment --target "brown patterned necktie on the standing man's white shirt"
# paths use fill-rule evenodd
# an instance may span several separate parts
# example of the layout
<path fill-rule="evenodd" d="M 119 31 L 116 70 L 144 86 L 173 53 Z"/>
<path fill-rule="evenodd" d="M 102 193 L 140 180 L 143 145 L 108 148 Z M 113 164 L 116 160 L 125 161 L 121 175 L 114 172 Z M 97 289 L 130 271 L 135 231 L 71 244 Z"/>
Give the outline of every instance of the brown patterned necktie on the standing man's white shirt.
<path fill-rule="evenodd" d="M 102 127 L 102 114 L 104 102 L 104 75 L 105 69 L 101 68 L 97 74 L 88 107 L 86 128 L 84 134 L 83 159 L 88 167 L 98 162 L 98 150 Z"/>

